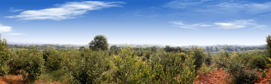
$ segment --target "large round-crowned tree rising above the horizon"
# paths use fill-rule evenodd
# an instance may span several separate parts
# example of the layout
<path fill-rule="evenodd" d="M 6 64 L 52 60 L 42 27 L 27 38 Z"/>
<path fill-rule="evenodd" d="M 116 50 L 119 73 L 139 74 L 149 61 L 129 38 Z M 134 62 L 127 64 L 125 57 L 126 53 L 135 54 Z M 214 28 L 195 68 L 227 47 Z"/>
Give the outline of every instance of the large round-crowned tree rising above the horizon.
<path fill-rule="evenodd" d="M 94 39 L 88 43 L 91 50 L 108 50 L 107 37 L 104 35 L 96 35 Z"/>

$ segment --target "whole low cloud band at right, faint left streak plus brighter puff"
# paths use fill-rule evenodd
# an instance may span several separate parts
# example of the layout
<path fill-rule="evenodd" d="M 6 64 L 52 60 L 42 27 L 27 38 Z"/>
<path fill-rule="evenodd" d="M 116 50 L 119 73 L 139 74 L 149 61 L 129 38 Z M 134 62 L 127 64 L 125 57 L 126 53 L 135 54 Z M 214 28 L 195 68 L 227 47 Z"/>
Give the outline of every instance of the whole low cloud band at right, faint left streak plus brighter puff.
<path fill-rule="evenodd" d="M 172 23 L 174 27 L 182 28 L 182 29 L 194 29 L 200 30 L 200 28 L 212 28 L 212 29 L 239 29 L 239 28 L 246 28 L 248 30 L 253 29 L 267 29 L 266 25 L 259 25 L 256 20 L 249 19 L 249 20 L 234 20 L 231 22 L 221 22 L 221 23 L 214 23 L 214 25 L 208 24 L 192 24 L 186 25 L 182 21 L 171 21 L 168 23 Z"/>

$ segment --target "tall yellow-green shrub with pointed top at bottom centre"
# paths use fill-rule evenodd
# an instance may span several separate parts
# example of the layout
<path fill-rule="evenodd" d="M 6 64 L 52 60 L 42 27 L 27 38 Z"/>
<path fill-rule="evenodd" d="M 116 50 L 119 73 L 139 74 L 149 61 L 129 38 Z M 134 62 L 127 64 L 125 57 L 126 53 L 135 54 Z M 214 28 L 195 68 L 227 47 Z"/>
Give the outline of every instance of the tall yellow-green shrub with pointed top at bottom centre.
<path fill-rule="evenodd" d="M 109 75 L 107 83 L 158 83 L 156 72 L 160 66 L 151 67 L 151 63 L 140 61 L 132 56 L 133 52 L 127 48 L 122 48 L 122 54 L 115 57 L 116 72 Z M 161 68 L 160 68 L 161 69 Z M 113 78 L 113 80 L 110 80 Z"/>

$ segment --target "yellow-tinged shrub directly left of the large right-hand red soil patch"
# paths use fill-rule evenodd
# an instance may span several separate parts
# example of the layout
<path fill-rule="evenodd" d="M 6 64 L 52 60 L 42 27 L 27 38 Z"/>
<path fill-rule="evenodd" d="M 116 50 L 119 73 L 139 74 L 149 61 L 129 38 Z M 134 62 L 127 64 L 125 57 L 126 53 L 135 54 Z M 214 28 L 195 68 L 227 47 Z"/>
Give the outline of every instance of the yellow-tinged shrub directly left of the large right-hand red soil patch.
<path fill-rule="evenodd" d="M 188 59 L 185 59 L 185 62 L 182 62 L 182 58 L 176 57 L 176 61 L 174 62 L 174 65 L 171 67 L 166 67 L 166 71 L 161 72 L 161 82 L 164 84 L 192 84 L 195 79 L 198 78 L 195 77 L 195 65 L 193 64 L 195 59 L 192 59 L 193 56 L 189 55 L 187 57 Z M 163 70 L 163 68 L 162 68 Z"/>

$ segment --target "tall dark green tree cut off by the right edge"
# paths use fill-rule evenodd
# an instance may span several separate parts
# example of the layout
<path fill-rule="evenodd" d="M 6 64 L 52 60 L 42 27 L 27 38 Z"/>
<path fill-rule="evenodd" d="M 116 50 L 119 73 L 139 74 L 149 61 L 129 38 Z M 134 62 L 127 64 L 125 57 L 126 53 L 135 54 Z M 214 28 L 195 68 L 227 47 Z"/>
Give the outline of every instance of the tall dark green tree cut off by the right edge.
<path fill-rule="evenodd" d="M 270 34 L 266 35 L 265 37 L 265 41 L 266 41 L 266 49 L 264 50 L 265 51 L 265 54 L 267 57 L 271 58 L 271 36 Z"/>

